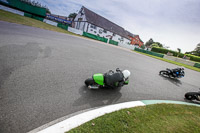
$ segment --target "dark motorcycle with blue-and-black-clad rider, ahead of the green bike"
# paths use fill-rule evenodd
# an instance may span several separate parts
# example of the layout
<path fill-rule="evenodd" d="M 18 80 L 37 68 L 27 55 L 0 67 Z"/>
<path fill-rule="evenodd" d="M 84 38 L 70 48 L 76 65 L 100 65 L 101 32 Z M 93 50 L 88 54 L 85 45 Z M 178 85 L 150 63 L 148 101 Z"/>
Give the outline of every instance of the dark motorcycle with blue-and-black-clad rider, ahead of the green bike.
<path fill-rule="evenodd" d="M 167 76 L 169 78 L 182 78 L 185 76 L 184 68 L 167 68 L 166 70 L 161 70 L 159 74 L 162 76 Z"/>

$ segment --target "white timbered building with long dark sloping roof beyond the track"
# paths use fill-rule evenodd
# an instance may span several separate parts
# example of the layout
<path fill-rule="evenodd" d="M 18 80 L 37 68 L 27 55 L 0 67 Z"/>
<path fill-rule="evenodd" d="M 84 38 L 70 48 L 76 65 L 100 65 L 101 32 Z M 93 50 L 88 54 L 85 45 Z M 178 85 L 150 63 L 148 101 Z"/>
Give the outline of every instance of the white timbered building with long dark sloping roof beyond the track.
<path fill-rule="evenodd" d="M 78 30 L 112 39 L 120 44 L 130 44 L 130 38 L 126 34 L 124 28 L 92 12 L 84 6 L 74 19 L 74 23 L 74 28 Z"/>

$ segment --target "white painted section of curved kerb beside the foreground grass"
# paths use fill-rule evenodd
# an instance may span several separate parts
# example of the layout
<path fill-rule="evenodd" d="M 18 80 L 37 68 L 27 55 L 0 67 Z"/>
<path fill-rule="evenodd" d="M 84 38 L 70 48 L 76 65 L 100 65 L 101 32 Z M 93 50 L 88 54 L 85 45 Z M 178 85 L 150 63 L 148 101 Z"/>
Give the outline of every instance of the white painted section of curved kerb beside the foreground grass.
<path fill-rule="evenodd" d="M 114 104 L 114 105 L 109 105 L 106 107 L 94 109 L 94 110 L 73 116 L 55 125 L 52 125 L 44 130 L 39 131 L 38 133 L 64 133 L 75 127 L 78 127 L 79 125 L 85 122 L 88 122 L 92 119 L 102 116 L 106 113 L 111 113 L 120 109 L 131 108 L 131 107 L 136 107 L 136 106 L 145 106 L 145 104 L 141 101 L 133 101 L 133 102 Z"/>

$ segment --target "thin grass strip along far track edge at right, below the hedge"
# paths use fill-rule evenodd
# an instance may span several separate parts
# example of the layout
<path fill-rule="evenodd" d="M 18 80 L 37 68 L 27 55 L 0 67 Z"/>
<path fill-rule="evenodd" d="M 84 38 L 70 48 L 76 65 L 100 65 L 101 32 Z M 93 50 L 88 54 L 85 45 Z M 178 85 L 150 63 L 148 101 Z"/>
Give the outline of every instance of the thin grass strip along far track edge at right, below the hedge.
<path fill-rule="evenodd" d="M 186 64 L 183 64 L 183 63 L 179 63 L 179 62 L 167 60 L 167 59 L 164 59 L 164 58 L 160 58 L 160 57 L 157 57 L 157 56 L 145 54 L 145 53 L 138 52 L 138 51 L 134 51 L 134 52 L 137 52 L 137 53 L 140 53 L 140 54 L 143 54 L 143 55 L 147 55 L 147 56 L 150 56 L 150 57 L 153 57 L 153 58 L 156 58 L 156 59 L 165 61 L 165 62 L 169 62 L 169 63 L 175 64 L 175 65 L 178 65 L 178 66 L 182 66 L 182 67 L 185 67 L 185 68 L 188 68 L 188 69 L 191 69 L 191 70 L 195 70 L 195 71 L 197 71 L 197 72 L 200 72 L 200 69 L 197 68 L 197 67 L 189 66 L 189 65 L 186 65 Z"/>

